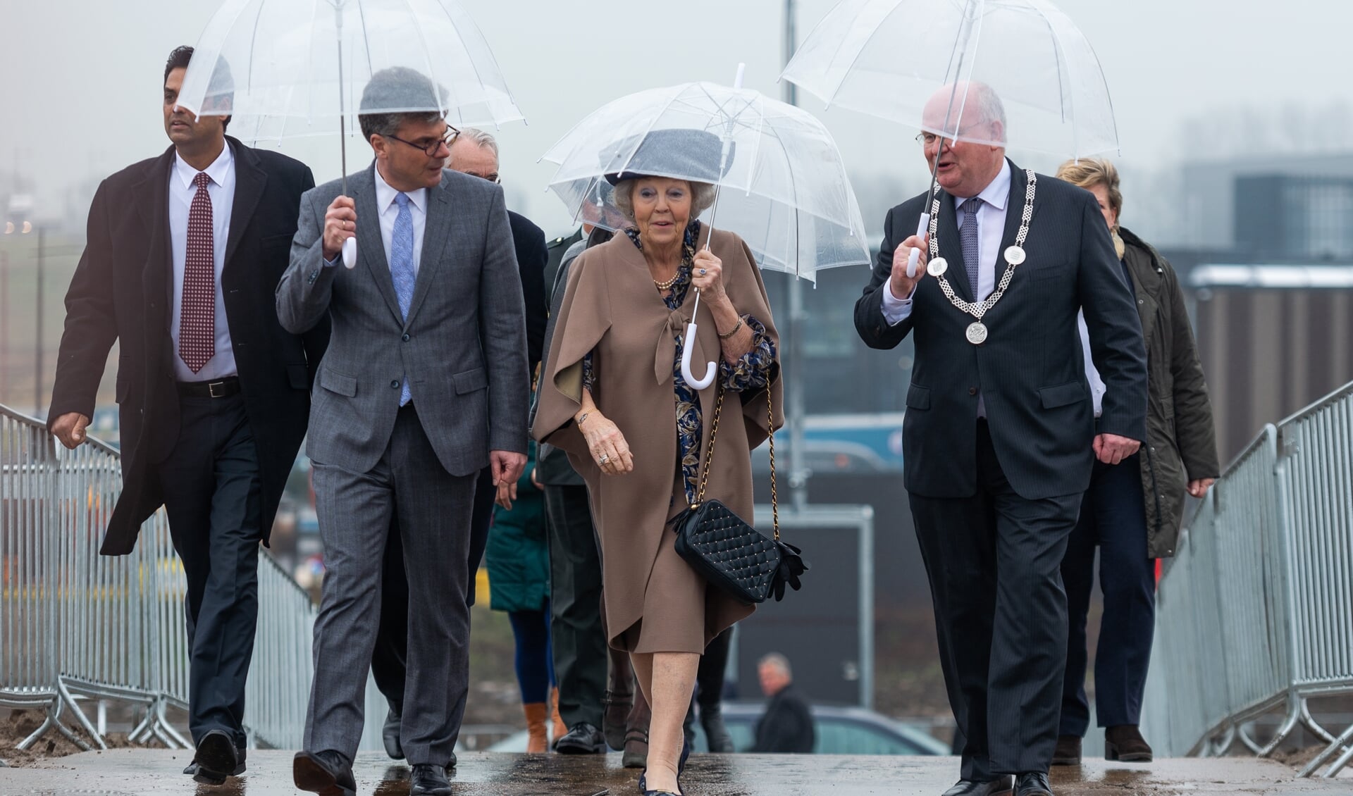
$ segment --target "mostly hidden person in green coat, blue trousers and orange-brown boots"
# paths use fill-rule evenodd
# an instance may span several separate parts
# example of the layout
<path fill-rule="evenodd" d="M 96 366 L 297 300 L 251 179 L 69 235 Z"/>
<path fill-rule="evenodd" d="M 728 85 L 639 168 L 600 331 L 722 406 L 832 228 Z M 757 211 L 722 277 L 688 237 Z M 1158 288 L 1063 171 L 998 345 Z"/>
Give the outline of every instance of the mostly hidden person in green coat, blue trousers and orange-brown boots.
<path fill-rule="evenodd" d="M 549 649 L 549 549 L 545 542 L 545 497 L 536 484 L 536 443 L 515 484 L 498 487 L 498 507 L 484 549 L 488 607 L 506 611 L 517 642 L 517 685 L 521 688 L 529 741 L 526 751 L 545 751 L 545 723 L 555 714 L 555 738 L 567 730 L 557 720 L 555 665 Z"/>

